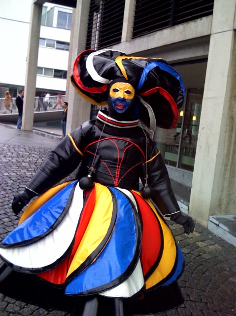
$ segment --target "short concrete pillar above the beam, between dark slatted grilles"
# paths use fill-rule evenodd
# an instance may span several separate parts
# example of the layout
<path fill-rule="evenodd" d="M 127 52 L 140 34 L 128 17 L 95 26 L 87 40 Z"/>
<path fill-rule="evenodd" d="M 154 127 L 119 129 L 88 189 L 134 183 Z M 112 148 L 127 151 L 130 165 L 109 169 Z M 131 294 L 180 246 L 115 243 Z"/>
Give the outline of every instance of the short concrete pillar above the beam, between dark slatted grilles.
<path fill-rule="evenodd" d="M 134 12 L 135 12 L 135 0 L 126 0 L 123 28 L 122 28 L 122 37 L 121 37 L 122 42 L 132 40 Z"/>

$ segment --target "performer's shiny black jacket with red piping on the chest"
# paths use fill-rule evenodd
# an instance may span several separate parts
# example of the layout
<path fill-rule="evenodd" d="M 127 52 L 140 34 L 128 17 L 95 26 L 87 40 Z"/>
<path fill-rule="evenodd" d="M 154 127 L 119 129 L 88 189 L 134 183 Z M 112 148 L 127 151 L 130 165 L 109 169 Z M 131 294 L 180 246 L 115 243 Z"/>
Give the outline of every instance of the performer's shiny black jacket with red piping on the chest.
<path fill-rule="evenodd" d="M 139 189 L 143 179 L 142 164 L 147 166 L 148 185 L 154 189 L 152 199 L 163 214 L 179 210 L 170 186 L 169 175 L 155 142 L 139 126 L 114 127 L 102 120 L 90 120 L 63 138 L 50 153 L 27 186 L 41 194 L 74 171 L 78 179 L 87 176 L 95 156 L 95 182 L 128 190 Z M 142 180 L 143 181 L 143 180 Z"/>

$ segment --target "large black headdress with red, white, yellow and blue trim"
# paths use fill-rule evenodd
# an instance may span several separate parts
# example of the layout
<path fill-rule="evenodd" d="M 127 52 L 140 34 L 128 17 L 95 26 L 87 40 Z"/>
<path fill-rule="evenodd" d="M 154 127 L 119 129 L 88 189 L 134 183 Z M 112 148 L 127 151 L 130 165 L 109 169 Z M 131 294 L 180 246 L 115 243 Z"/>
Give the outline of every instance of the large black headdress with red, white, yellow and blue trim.
<path fill-rule="evenodd" d="M 105 105 L 108 86 L 114 79 L 127 79 L 139 99 L 139 119 L 150 129 L 172 128 L 185 89 L 180 75 L 161 58 L 127 56 L 117 50 L 85 50 L 75 59 L 71 82 L 87 101 Z"/>

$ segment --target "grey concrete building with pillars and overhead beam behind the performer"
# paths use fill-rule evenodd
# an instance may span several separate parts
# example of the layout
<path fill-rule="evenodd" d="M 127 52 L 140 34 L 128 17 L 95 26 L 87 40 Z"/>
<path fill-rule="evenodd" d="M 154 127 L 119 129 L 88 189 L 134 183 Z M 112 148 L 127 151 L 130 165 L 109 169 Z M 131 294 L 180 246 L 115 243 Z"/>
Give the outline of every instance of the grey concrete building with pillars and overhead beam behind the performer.
<path fill-rule="evenodd" d="M 36 59 L 32 47 L 36 48 L 39 40 L 37 29 L 43 2 L 33 0 L 32 5 L 34 23 L 31 22 L 27 58 L 25 130 L 33 128 L 30 101 L 35 94 Z M 107 47 L 128 55 L 166 59 L 180 73 L 186 87 L 186 102 L 179 111 L 178 124 L 171 131 L 156 130 L 154 139 L 170 177 L 191 187 L 189 214 L 205 227 L 211 215 L 235 215 L 236 0 L 214 0 L 208 15 L 140 36 L 134 36 L 137 2 L 121 2 L 124 3 L 121 40 Z M 69 84 L 69 74 L 76 56 L 88 47 L 92 1 L 68 3 L 74 7 L 67 73 L 69 132 L 90 118 L 91 108 Z"/>

